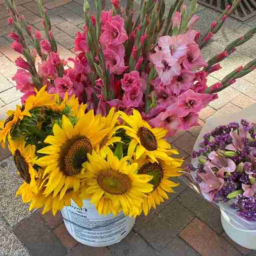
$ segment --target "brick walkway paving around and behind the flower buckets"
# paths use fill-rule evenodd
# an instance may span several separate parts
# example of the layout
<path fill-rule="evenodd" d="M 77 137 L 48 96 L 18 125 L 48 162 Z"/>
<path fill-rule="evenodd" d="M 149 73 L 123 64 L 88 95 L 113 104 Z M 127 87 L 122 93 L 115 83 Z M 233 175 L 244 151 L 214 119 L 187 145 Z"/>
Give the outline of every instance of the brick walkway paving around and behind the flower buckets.
<path fill-rule="evenodd" d="M 109 6 L 110 0 L 106 0 Z M 53 33 L 59 42 L 62 57 L 72 57 L 73 37 L 81 31 L 83 0 L 44 0 L 53 24 Z M 92 3 L 91 3 L 92 4 Z M 38 16 L 37 3 L 31 0 L 16 0 L 16 5 L 34 29 L 42 30 Z M 201 20 L 197 25 L 205 31 L 218 15 L 213 10 L 199 7 Z M 256 26 L 256 19 L 245 23 L 230 19 L 221 29 L 215 42 L 203 49 L 206 58 L 215 51 L 223 50 L 228 43 L 246 30 Z M 7 12 L 0 0 L 0 118 L 6 116 L 7 109 L 20 104 L 20 93 L 16 91 L 12 76 L 16 72 L 14 60 L 17 53 L 10 49 L 7 34 Z M 222 79 L 237 65 L 244 65 L 256 57 L 255 39 L 223 62 L 223 69 L 209 77 L 209 85 Z M 219 99 L 200 113 L 201 125 L 208 118 L 235 113 L 256 102 L 256 72 L 246 75 L 229 89 L 219 94 Z M 171 138 L 174 148 L 190 161 L 200 127 L 181 132 Z M 250 251 L 233 243 L 223 232 L 220 212 L 193 190 L 181 182 L 176 194 L 151 211 L 148 217 L 140 216 L 131 233 L 120 243 L 93 248 L 77 243 L 67 233 L 60 214 L 41 216 L 40 211 L 29 213 L 28 207 L 14 194 L 20 180 L 7 150 L 0 150 L 0 256 L 256 256 Z"/>

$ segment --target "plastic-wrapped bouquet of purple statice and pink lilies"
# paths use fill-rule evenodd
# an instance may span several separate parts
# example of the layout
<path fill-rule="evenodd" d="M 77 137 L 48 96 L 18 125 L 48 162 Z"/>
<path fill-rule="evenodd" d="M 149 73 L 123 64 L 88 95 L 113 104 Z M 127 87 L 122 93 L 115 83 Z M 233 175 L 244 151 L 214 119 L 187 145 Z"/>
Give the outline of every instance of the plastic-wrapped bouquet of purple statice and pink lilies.
<path fill-rule="evenodd" d="M 183 180 L 240 227 L 256 230 L 255 105 L 203 127 Z"/>

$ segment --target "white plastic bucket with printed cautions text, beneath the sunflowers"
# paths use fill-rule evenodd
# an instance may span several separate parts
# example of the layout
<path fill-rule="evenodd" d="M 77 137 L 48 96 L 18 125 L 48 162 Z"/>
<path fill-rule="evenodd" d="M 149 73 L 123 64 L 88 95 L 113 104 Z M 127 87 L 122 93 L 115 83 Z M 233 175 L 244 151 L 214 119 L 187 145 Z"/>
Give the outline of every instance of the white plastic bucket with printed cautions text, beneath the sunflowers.
<path fill-rule="evenodd" d="M 82 208 L 71 201 L 71 206 L 64 207 L 61 213 L 69 234 L 88 246 L 102 247 L 118 243 L 135 224 L 135 218 L 122 212 L 115 217 L 113 214 L 98 215 L 90 200 L 84 200 Z"/>

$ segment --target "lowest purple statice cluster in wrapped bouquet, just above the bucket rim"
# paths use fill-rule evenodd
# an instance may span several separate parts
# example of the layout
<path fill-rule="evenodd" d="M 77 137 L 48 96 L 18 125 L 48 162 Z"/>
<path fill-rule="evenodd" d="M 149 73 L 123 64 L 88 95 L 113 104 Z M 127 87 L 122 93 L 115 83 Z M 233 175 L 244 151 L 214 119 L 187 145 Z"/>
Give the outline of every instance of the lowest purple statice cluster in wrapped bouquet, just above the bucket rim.
<path fill-rule="evenodd" d="M 256 221 L 256 198 L 246 198 L 243 195 L 238 195 L 236 201 L 231 206 L 238 209 L 238 214 L 245 220 Z"/>

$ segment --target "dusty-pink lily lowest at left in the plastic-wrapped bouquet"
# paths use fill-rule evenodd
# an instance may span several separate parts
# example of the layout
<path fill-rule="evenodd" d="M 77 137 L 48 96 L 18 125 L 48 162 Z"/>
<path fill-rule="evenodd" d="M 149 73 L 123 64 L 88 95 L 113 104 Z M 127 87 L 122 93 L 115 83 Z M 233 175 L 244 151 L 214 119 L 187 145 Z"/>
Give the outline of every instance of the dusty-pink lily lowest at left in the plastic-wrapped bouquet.
<path fill-rule="evenodd" d="M 214 174 L 209 166 L 205 166 L 206 173 L 198 174 L 204 181 L 200 187 L 204 193 L 209 193 L 210 200 L 213 202 L 214 196 L 217 191 L 221 190 L 224 186 L 224 171 L 221 168 L 217 174 Z"/>

